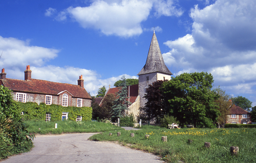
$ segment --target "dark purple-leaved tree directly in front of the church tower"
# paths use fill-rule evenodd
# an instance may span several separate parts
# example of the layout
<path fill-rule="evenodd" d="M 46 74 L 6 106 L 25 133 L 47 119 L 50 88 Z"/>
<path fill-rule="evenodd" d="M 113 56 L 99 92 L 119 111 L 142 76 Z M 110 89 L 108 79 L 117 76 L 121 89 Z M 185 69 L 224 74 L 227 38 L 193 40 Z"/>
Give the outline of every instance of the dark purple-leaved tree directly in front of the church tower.
<path fill-rule="evenodd" d="M 164 82 L 167 82 L 167 80 L 153 82 L 152 85 L 149 84 L 148 88 L 146 89 L 144 98 L 146 98 L 148 101 L 145 107 L 141 108 L 140 110 L 142 113 L 146 114 L 147 120 L 163 118 L 164 114 L 166 114 L 164 103 L 162 101 L 164 98 L 163 90 L 160 89 Z"/>

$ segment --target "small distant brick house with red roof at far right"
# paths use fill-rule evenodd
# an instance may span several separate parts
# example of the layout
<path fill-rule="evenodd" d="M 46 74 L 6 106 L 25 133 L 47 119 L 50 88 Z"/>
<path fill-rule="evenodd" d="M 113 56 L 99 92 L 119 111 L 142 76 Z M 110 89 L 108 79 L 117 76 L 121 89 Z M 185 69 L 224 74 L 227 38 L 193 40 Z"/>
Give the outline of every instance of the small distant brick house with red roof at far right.
<path fill-rule="evenodd" d="M 227 115 L 226 123 L 236 123 L 236 124 L 251 124 L 251 113 L 245 111 L 239 106 L 233 105 L 230 110 L 230 114 Z"/>

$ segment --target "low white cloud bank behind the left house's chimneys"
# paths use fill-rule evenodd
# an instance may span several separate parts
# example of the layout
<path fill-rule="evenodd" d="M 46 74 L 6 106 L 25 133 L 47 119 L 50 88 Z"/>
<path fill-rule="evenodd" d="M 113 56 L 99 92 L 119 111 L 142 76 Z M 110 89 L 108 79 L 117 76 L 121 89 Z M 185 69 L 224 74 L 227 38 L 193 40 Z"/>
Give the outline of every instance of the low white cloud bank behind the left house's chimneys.
<path fill-rule="evenodd" d="M 1 68 L 5 68 L 7 78 L 24 80 L 24 71 L 26 66 L 30 65 L 33 79 L 41 79 L 52 82 L 61 82 L 69 84 L 77 84 L 80 75 L 83 75 L 84 88 L 90 92 L 92 96 L 97 94 L 97 91 L 103 85 L 108 88 L 110 84 L 113 88 L 114 83 L 121 79 L 123 75 L 126 78 L 138 78 L 123 74 L 108 79 L 100 79 L 100 75 L 94 70 L 86 70 L 78 67 L 58 67 L 46 65 L 50 59 L 57 57 L 60 52 L 56 49 L 48 49 L 38 46 L 29 46 L 29 41 L 22 41 L 16 38 L 3 38 L 0 36 L 0 51 L 2 57 L 0 59 Z M 15 58 L 15 59 L 13 59 Z"/>

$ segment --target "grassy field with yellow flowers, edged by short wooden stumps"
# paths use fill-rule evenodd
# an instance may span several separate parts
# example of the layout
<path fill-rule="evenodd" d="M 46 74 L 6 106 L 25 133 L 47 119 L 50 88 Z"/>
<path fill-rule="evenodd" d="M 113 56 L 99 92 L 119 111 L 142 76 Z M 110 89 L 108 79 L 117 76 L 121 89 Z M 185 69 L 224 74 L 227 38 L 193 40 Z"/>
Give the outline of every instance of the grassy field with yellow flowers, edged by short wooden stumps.
<path fill-rule="evenodd" d="M 141 149 L 162 156 L 172 163 L 254 163 L 256 162 L 256 128 L 190 128 L 163 129 L 143 126 L 142 130 L 110 131 L 97 134 L 90 139 L 94 141 L 118 141 L 134 149 Z M 117 137 L 117 132 L 121 136 Z M 134 133 L 134 137 L 130 136 Z M 145 138 L 145 135 L 150 135 Z M 167 136 L 167 142 L 161 140 Z M 192 143 L 188 142 L 192 140 Z M 211 147 L 205 148 L 204 142 Z M 230 146 L 238 146 L 238 156 L 230 154 Z"/>

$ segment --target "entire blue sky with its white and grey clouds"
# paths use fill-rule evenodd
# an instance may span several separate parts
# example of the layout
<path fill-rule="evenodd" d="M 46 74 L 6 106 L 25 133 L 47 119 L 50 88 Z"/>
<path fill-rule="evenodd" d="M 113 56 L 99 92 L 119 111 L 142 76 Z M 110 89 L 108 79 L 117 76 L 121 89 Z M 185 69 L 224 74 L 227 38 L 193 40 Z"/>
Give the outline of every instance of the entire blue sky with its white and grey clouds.
<path fill-rule="evenodd" d="M 256 105 L 254 0 L 1 0 L 7 78 L 77 84 L 92 96 L 138 78 L 155 30 L 172 76 L 207 72 L 213 88 Z"/>

